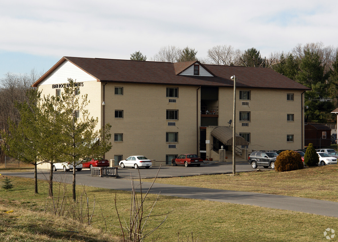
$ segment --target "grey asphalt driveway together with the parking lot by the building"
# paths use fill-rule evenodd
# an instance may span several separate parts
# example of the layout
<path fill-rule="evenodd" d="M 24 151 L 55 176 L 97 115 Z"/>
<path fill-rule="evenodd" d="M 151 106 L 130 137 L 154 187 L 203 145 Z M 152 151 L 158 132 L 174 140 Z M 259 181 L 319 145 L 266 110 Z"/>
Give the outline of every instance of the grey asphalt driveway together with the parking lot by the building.
<path fill-rule="evenodd" d="M 139 169 L 141 177 L 155 177 L 159 167 L 150 169 Z M 236 171 L 252 171 L 247 163 L 236 164 Z M 265 170 L 264 168 L 262 170 Z M 205 164 L 200 167 L 164 166 L 161 167 L 158 177 L 198 175 L 198 174 L 219 174 L 232 173 L 232 163 Z M 56 171 L 53 173 L 55 181 L 72 183 L 72 172 Z M 134 178 L 135 185 L 139 184 L 139 173 L 137 169 L 118 169 L 118 178 L 94 177 L 90 175 L 89 169 L 83 169 L 76 173 L 76 184 L 107 189 L 131 191 L 130 177 Z M 2 175 L 34 177 L 33 171 L 27 172 L 2 172 Z M 40 170 L 39 179 L 48 179 L 48 171 Z M 140 184 L 139 184 L 140 185 Z M 146 191 L 151 186 L 149 182 L 142 183 L 142 190 Z M 138 186 L 138 189 L 140 186 Z M 176 186 L 169 184 L 155 183 L 150 193 L 165 196 L 177 196 L 218 202 L 230 202 L 237 204 L 257 205 L 266 208 L 284 209 L 298 212 L 305 212 L 324 216 L 338 217 L 338 202 L 323 201 L 300 197 L 289 197 L 273 194 L 262 194 L 254 192 L 240 192 L 219 189 L 197 188 L 188 186 Z"/>

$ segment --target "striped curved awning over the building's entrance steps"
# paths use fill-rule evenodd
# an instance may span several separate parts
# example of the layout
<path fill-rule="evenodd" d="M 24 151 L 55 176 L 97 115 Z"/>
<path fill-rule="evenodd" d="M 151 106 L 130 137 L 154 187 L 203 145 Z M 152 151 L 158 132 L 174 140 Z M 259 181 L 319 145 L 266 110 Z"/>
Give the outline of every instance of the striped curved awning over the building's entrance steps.
<path fill-rule="evenodd" d="M 211 131 L 211 135 L 221 141 L 224 145 L 233 144 L 233 130 L 227 126 L 218 126 Z M 249 145 L 249 143 L 238 134 L 235 134 L 235 141 L 237 145 Z"/>

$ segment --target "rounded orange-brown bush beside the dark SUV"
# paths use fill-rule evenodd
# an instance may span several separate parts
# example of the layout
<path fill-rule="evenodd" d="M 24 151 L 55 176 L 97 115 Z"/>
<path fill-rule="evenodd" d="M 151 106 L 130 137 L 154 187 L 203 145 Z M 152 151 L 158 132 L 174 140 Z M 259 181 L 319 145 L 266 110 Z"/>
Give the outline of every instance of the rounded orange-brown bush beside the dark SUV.
<path fill-rule="evenodd" d="M 276 158 L 276 171 L 294 171 L 303 169 L 303 167 L 304 164 L 303 161 L 301 161 L 300 154 L 292 150 L 285 150 L 281 152 Z"/>

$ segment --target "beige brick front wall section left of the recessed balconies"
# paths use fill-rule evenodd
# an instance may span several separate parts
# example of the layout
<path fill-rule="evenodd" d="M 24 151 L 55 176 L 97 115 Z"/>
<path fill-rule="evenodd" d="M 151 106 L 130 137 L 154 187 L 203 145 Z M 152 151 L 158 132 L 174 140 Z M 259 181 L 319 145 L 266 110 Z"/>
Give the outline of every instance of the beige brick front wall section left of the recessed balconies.
<path fill-rule="evenodd" d="M 115 87 L 123 87 L 123 95 L 115 95 Z M 167 87 L 178 88 L 178 98 L 167 98 Z M 158 162 L 165 161 L 166 154 L 196 153 L 197 89 L 161 84 L 106 84 L 105 121 L 112 125 L 113 147 L 105 157 L 114 159 L 114 155 L 123 155 L 126 159 L 130 155 L 144 155 Z M 115 110 L 123 110 L 122 119 L 115 118 Z M 179 110 L 178 120 L 167 120 L 166 110 Z M 176 122 L 176 126 L 168 126 L 168 122 Z M 167 143 L 166 132 L 178 132 L 178 142 Z M 123 134 L 123 142 L 114 142 L 114 134 Z M 176 148 L 168 148 L 169 144 L 176 144 Z"/>

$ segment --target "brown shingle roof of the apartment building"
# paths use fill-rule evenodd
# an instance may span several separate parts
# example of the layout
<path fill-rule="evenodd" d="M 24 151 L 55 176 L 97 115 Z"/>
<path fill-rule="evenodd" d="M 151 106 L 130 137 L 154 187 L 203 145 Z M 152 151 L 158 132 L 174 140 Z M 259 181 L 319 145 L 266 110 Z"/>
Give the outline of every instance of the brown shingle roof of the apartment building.
<path fill-rule="evenodd" d="M 230 77 L 235 75 L 238 87 L 310 90 L 269 68 L 202 65 L 214 76 L 183 76 L 177 74 L 196 63 L 195 61 L 168 63 L 82 57 L 63 57 L 32 86 L 37 87 L 66 60 L 98 81 L 232 87 L 233 81 Z"/>

